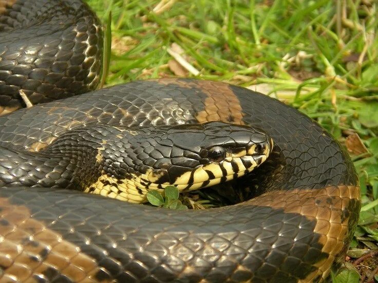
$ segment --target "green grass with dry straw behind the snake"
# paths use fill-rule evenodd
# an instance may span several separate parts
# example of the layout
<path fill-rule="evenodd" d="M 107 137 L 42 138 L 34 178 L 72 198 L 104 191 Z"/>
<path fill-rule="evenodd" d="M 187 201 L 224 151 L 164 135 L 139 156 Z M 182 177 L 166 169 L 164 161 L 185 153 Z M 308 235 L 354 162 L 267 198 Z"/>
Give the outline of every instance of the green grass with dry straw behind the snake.
<path fill-rule="evenodd" d="M 222 80 L 284 100 L 341 141 L 363 201 L 348 267 L 362 282 L 378 281 L 378 256 L 367 255 L 378 249 L 377 2 L 87 3 L 105 24 L 111 11 L 105 84 L 175 75 Z"/>

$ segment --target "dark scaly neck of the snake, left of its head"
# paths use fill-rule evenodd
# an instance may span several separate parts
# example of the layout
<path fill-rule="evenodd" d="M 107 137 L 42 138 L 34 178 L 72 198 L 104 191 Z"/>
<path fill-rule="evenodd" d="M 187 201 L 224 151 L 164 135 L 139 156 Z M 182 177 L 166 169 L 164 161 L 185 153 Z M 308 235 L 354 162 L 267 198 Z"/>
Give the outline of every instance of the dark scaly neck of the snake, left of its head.
<path fill-rule="evenodd" d="M 118 133 L 82 128 L 63 134 L 39 152 L 0 145 L 0 187 L 65 187 L 84 191 L 104 174 L 105 138 Z"/>

